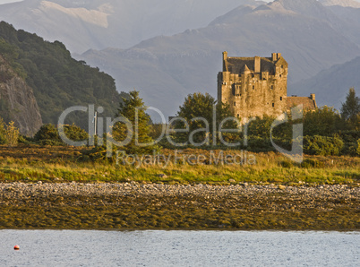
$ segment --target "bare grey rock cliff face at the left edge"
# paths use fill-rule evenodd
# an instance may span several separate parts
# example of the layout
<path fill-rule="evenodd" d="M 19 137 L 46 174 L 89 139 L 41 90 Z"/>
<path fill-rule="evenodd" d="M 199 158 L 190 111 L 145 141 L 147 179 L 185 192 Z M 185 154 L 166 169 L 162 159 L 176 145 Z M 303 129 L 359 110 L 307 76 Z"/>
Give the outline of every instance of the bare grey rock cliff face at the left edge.
<path fill-rule="evenodd" d="M 42 125 L 38 103 L 32 89 L 0 56 L 0 116 L 14 121 L 20 133 L 35 134 Z"/>

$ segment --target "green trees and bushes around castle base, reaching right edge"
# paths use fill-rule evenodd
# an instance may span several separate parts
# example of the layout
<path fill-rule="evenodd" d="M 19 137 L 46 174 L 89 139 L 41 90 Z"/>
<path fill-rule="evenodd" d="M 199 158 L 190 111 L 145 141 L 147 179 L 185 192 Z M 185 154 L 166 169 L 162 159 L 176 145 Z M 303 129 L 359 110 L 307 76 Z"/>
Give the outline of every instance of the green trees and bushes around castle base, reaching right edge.
<path fill-rule="evenodd" d="M 217 107 L 216 113 L 212 111 L 214 105 Z M 193 139 L 197 143 L 204 142 L 201 148 L 206 148 L 207 140 L 210 139 L 210 141 L 215 140 L 215 143 L 211 143 L 212 148 L 214 146 L 227 148 L 219 140 L 220 123 L 224 118 L 231 116 L 227 105 L 217 103 L 209 94 L 194 93 L 186 97 L 176 116 L 183 117 L 190 130 L 174 134 L 173 138 L 177 142 Z M 207 136 L 203 131 L 190 136 L 197 129 L 206 128 L 207 126 L 199 117 L 206 118 L 208 122 L 213 122 L 213 116 L 216 116 L 218 129 L 218 132 L 215 132 L 217 136 L 215 139 Z M 238 119 L 241 121 L 242 118 Z M 316 108 L 316 110 L 304 111 L 303 118 L 300 120 L 292 121 L 291 115 L 289 115 L 287 123 L 278 125 L 271 132 L 271 125 L 275 119 L 276 117 L 271 116 L 256 117 L 255 120 L 246 125 L 246 131 L 221 135 L 223 135 L 223 140 L 226 142 L 240 143 L 236 146 L 236 149 L 260 152 L 275 151 L 270 140 L 271 133 L 275 143 L 290 150 L 292 143 L 296 142 L 296 140 L 293 140 L 293 125 L 303 124 L 304 153 L 323 156 L 356 156 L 360 154 L 360 99 L 356 96 L 354 88 L 348 91 L 347 99 L 342 104 L 340 112 L 335 108 L 324 106 Z M 184 129 L 184 122 L 176 122 L 174 128 Z M 212 124 L 210 124 L 209 128 L 210 134 L 214 134 Z M 223 128 L 236 130 L 238 125 L 236 125 L 235 121 L 228 121 Z M 154 133 L 157 132 L 159 134 L 159 131 L 154 131 Z M 167 140 L 160 143 L 164 147 L 172 147 Z M 188 146 L 192 147 L 190 144 Z"/>

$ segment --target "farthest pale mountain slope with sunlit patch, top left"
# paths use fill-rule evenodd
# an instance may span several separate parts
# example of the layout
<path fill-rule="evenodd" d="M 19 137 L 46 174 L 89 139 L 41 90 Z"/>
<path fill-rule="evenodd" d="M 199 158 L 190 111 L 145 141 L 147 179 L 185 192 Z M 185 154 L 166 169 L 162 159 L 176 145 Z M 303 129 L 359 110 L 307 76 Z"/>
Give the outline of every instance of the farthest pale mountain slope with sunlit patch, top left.
<path fill-rule="evenodd" d="M 60 39 L 73 53 L 90 48 L 133 47 L 144 39 L 206 26 L 254 0 L 26 0 L 3 4 L 0 21 Z"/>

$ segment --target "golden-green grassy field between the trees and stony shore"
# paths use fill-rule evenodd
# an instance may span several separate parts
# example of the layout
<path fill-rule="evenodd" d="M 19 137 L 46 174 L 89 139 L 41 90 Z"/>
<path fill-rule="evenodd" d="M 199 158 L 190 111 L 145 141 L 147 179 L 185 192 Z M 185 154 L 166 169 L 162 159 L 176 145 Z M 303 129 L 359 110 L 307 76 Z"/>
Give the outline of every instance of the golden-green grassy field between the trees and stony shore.
<path fill-rule="evenodd" d="M 128 182 L 146 181 L 167 184 L 207 183 L 229 185 L 239 182 L 257 184 L 313 185 L 360 183 L 360 158 L 305 156 L 303 164 L 292 163 L 274 153 L 242 151 L 163 150 L 171 157 L 160 164 L 99 163 L 81 160 L 86 148 L 0 146 L 1 182 Z M 211 154 L 212 153 L 212 154 Z M 215 164 L 219 155 L 243 155 L 243 164 Z M 196 164 L 197 155 L 201 162 Z M 175 158 L 177 157 L 177 160 Z M 131 161 L 130 159 L 128 161 Z M 237 158 L 240 162 L 240 157 Z"/>

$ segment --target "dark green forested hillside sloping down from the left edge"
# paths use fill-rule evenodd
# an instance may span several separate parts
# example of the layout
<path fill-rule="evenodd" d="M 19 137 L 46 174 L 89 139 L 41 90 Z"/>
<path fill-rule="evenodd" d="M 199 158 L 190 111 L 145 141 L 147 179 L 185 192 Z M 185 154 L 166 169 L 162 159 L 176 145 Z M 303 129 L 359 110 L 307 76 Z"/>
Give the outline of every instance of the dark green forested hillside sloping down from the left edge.
<path fill-rule="evenodd" d="M 66 108 L 95 104 L 114 116 L 121 99 L 114 79 L 73 59 L 64 45 L 0 22 L 0 54 L 33 89 L 43 123 L 57 124 Z M 125 95 L 125 94 L 124 94 Z M 87 128 L 88 115 L 72 113 L 66 123 Z"/>

